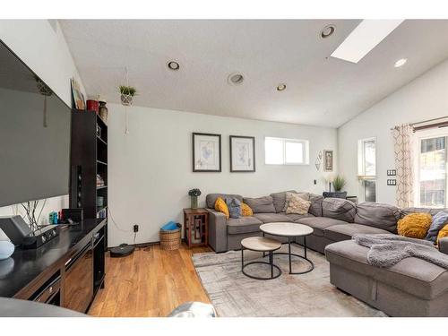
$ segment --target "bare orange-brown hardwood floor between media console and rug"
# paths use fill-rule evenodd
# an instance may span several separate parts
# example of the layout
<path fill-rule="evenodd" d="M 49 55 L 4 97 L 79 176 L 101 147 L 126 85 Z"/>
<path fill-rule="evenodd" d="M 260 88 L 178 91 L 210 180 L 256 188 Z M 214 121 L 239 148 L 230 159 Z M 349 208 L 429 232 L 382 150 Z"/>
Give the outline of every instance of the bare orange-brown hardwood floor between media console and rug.
<path fill-rule="evenodd" d="M 191 255 L 209 247 L 162 251 L 159 246 L 137 248 L 124 258 L 106 258 L 106 288 L 90 306 L 93 316 L 162 317 L 187 301 L 210 303 Z"/>

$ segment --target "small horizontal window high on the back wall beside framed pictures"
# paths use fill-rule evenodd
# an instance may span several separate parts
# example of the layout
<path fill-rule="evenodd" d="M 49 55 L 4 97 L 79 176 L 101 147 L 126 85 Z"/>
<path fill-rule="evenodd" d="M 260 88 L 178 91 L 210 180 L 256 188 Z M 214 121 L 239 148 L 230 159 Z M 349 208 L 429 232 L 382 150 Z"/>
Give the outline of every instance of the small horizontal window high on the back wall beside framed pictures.
<path fill-rule="evenodd" d="M 307 165 L 308 152 L 307 140 L 264 138 L 264 162 L 267 165 Z"/>

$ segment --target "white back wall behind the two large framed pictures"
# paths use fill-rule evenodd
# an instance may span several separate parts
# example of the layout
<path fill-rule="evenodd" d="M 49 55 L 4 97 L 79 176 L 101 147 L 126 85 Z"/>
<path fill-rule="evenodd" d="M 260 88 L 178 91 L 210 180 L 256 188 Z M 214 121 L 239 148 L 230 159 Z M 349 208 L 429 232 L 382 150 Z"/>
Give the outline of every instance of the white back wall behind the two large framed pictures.
<path fill-rule="evenodd" d="M 108 120 L 109 246 L 132 243 L 133 224 L 140 225 L 136 242 L 159 240 L 159 228 L 168 220 L 182 222 L 189 207 L 189 189 L 210 193 L 262 196 L 287 189 L 322 193 L 319 151 L 336 150 L 336 129 L 261 122 L 155 108 L 128 108 L 130 134 L 125 134 L 125 108 L 110 104 Z M 222 172 L 192 172 L 192 133 L 221 134 Z M 229 172 L 229 135 L 255 136 L 255 173 Z M 265 136 L 310 140 L 310 165 L 264 164 Z M 336 156 L 336 152 L 335 152 Z M 317 185 L 313 185 L 317 179 Z M 128 230 L 124 232 L 123 230 Z"/>

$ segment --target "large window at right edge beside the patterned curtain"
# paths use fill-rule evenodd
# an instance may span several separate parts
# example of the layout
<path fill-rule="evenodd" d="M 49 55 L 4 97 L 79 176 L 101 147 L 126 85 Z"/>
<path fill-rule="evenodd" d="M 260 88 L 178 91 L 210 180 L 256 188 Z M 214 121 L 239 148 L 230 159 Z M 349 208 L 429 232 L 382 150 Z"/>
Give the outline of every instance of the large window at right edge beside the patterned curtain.
<path fill-rule="evenodd" d="M 424 208 L 446 208 L 448 130 L 419 131 L 415 145 L 415 203 Z"/>

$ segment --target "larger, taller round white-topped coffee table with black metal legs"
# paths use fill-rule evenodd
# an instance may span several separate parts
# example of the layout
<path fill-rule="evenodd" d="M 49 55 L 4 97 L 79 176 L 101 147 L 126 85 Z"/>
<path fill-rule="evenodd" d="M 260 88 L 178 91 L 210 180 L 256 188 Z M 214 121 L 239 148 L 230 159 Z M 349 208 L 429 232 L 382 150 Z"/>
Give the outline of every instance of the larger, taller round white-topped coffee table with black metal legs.
<path fill-rule="evenodd" d="M 313 228 L 310 228 L 304 224 L 278 222 L 263 224 L 260 226 L 260 229 L 263 232 L 263 237 L 264 234 L 277 237 L 288 237 L 288 253 L 276 252 L 275 254 L 287 254 L 289 256 L 289 274 L 305 274 L 314 270 L 314 263 L 306 257 L 306 236 L 313 233 Z M 294 240 L 295 237 L 304 237 L 304 255 L 291 253 L 291 241 Z M 263 256 L 265 255 L 263 254 Z M 306 260 L 306 262 L 310 264 L 310 267 L 306 271 L 292 271 L 292 256 Z"/>

